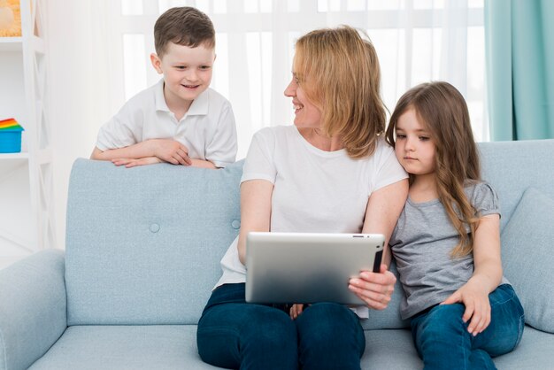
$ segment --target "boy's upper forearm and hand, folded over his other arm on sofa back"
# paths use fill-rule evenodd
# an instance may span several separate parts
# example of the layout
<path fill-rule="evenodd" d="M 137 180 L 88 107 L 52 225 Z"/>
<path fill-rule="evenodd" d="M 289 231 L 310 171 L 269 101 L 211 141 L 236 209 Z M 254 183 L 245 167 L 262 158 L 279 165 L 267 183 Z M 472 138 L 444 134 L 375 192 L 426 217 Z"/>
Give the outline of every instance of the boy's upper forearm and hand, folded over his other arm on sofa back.
<path fill-rule="evenodd" d="M 125 148 L 99 150 L 95 148 L 91 159 L 114 160 L 120 158 L 149 158 L 156 157 L 173 165 L 190 166 L 189 149 L 183 144 L 171 139 L 152 139 L 142 143 L 135 143 Z"/>

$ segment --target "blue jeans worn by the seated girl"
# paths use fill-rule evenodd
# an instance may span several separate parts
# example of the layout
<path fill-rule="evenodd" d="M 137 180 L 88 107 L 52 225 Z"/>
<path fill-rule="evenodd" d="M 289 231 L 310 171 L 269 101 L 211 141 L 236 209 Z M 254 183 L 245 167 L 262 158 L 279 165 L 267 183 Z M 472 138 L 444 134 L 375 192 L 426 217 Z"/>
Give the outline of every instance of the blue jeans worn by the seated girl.
<path fill-rule="evenodd" d="M 525 318 L 509 284 L 489 294 L 490 324 L 471 335 L 462 320 L 464 304 L 435 305 L 412 318 L 412 336 L 425 369 L 496 369 L 491 357 L 513 351 L 519 344 Z"/>

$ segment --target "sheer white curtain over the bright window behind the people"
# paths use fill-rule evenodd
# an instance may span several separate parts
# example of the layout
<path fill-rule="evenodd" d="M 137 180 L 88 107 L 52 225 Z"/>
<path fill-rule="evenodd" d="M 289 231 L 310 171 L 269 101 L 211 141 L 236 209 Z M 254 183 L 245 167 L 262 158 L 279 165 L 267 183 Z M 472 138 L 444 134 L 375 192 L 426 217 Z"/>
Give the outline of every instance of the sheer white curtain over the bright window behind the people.
<path fill-rule="evenodd" d="M 382 94 L 392 111 L 406 89 L 423 81 L 455 85 L 470 106 L 475 135 L 489 138 L 485 122 L 482 0 L 119 0 L 110 2 L 104 47 L 112 56 L 112 111 L 159 75 L 148 56 L 161 12 L 196 6 L 217 32 L 212 88 L 231 101 L 243 158 L 261 127 L 290 124 L 283 96 L 294 42 L 319 27 L 364 29 L 381 60 Z"/>

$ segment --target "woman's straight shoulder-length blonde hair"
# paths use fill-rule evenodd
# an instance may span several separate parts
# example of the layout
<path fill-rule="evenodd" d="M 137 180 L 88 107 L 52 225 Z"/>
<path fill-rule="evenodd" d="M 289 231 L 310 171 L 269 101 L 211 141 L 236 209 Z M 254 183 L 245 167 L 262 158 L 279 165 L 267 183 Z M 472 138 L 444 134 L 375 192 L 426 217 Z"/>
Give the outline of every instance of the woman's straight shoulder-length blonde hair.
<path fill-rule="evenodd" d="M 340 135 L 350 158 L 373 154 L 386 111 L 379 59 L 367 36 L 348 26 L 312 31 L 296 42 L 293 69 L 321 109 L 323 133 Z"/>

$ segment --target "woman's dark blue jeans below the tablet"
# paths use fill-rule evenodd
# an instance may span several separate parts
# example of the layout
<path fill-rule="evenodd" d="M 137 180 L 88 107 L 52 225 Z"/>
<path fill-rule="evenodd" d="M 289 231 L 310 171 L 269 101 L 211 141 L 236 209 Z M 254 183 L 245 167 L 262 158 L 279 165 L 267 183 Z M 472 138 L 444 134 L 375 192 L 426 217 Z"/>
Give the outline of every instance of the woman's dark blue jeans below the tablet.
<path fill-rule="evenodd" d="M 364 330 L 348 307 L 312 304 L 291 320 L 284 305 L 246 303 L 243 283 L 212 292 L 196 343 L 204 362 L 240 369 L 359 369 L 365 350 Z"/>

